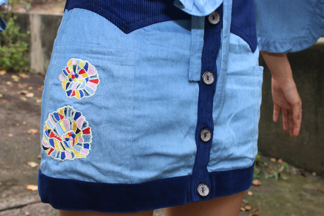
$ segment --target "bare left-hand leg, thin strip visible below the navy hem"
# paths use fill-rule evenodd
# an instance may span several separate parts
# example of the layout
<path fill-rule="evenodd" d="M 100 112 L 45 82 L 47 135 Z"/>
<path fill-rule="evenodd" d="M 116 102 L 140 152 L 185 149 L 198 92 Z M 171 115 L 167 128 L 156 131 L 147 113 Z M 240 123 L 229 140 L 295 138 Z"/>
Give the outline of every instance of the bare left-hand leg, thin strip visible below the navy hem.
<path fill-rule="evenodd" d="M 60 216 L 152 216 L 153 210 L 136 213 L 101 213 L 97 211 L 65 211 L 60 210 Z"/>

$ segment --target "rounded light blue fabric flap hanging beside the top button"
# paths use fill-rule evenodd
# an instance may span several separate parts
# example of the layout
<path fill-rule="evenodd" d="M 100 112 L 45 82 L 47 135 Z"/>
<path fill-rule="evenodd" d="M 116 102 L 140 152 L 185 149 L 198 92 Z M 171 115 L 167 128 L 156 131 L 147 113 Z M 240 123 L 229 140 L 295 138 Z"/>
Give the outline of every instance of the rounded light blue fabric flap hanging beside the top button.
<path fill-rule="evenodd" d="M 223 0 L 175 0 L 173 4 L 190 15 L 203 17 L 211 14 L 222 3 Z"/>

